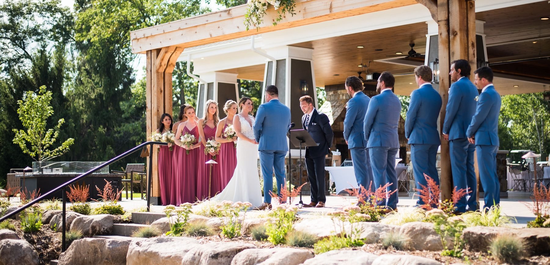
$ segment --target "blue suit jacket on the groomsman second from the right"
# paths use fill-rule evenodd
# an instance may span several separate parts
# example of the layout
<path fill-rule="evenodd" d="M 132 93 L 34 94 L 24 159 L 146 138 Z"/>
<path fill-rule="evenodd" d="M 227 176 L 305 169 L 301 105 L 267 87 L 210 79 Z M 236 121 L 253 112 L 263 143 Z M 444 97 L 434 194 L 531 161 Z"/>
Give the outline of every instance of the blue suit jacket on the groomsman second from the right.
<path fill-rule="evenodd" d="M 479 93 L 467 77 L 454 82 L 449 89 L 449 101 L 445 111 L 443 133 L 449 134 L 449 140 L 466 138 L 466 129 L 476 112 L 476 101 Z"/>

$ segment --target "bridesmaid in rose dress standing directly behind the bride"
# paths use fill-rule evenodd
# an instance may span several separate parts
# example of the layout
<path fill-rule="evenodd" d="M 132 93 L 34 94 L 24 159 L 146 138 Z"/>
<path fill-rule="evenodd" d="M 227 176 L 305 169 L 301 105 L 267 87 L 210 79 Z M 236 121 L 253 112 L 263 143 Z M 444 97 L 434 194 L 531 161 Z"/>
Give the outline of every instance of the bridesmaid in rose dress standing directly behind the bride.
<path fill-rule="evenodd" d="M 237 137 L 227 139 L 223 136 L 227 125 L 233 125 L 233 117 L 237 114 L 237 102 L 234 102 L 234 100 L 227 100 L 226 105 L 223 106 L 223 111 L 226 112 L 227 117 L 219 121 L 216 129 L 216 141 L 222 143 L 219 149 L 218 162 L 220 168 L 219 185 L 221 190 L 226 188 L 237 166 L 237 148 L 235 148 Z"/>

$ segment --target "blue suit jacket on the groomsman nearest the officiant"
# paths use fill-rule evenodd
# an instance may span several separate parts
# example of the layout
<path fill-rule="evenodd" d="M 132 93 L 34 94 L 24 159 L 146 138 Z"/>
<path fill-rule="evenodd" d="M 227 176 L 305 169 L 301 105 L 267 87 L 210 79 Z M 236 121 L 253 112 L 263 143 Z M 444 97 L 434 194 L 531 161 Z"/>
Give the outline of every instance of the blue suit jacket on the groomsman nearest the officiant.
<path fill-rule="evenodd" d="M 348 109 L 344 119 L 344 139 L 348 141 L 349 148 L 365 147 L 365 134 L 363 122 L 368 108 L 369 98 L 365 93 L 357 92 L 355 97 L 348 100 Z"/>

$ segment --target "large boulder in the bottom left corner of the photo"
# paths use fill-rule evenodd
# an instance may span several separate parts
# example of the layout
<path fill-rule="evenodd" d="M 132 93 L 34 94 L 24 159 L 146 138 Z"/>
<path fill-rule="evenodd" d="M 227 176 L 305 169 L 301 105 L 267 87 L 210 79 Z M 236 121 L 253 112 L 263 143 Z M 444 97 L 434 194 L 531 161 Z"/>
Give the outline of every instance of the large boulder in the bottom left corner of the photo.
<path fill-rule="evenodd" d="M 1 265 L 40 264 L 38 253 L 25 240 L 4 239 L 0 241 Z"/>

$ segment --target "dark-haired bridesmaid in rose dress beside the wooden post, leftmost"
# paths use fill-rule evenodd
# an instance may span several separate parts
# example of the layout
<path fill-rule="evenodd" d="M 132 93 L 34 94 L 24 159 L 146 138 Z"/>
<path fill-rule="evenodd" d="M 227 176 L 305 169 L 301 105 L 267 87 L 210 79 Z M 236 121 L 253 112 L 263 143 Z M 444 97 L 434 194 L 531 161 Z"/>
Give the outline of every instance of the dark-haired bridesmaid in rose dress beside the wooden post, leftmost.
<path fill-rule="evenodd" d="M 158 125 L 157 133 L 167 133 L 172 132 L 172 116 L 170 114 L 164 113 L 161 116 L 161 121 Z M 172 144 L 160 146 L 160 151 L 158 152 L 158 179 L 161 186 L 161 201 L 163 205 L 166 205 L 168 201 L 167 198 L 170 196 L 170 182 L 172 179 L 172 154 L 173 151 L 170 151 Z"/>

